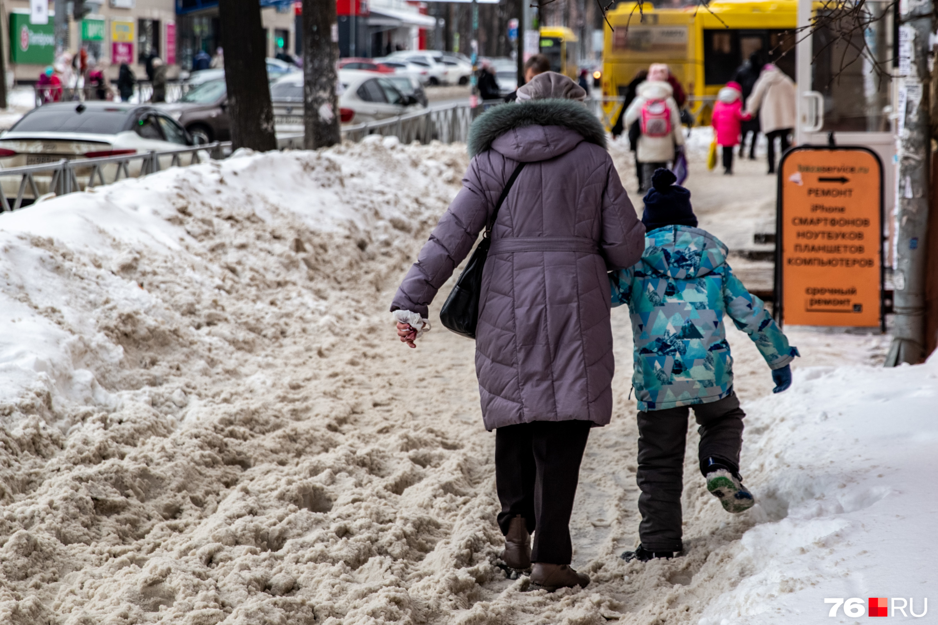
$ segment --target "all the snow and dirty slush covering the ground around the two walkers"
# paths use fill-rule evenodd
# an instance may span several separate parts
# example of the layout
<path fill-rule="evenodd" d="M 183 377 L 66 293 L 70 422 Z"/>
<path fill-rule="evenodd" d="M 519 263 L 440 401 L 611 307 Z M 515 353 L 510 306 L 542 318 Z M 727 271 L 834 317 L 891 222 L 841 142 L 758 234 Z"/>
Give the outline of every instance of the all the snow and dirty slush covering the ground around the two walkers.
<path fill-rule="evenodd" d="M 687 553 L 626 564 L 622 310 L 613 423 L 572 521 L 593 583 L 507 580 L 474 343 L 434 324 L 408 350 L 386 312 L 466 164 L 369 139 L 0 216 L 0 622 L 826 623 L 826 597 L 870 596 L 920 613 L 938 365 L 886 370 L 887 337 L 794 331 L 794 386 L 771 395 L 728 331 L 761 503 L 722 511 L 689 428 Z"/>

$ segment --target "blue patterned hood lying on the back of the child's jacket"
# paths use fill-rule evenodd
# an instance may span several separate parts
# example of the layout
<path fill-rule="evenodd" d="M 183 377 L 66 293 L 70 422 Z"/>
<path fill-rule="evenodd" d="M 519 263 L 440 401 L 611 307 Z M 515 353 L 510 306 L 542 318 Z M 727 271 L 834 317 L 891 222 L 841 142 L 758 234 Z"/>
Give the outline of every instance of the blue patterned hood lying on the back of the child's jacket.
<path fill-rule="evenodd" d="M 707 275 L 726 262 L 729 249 L 707 231 L 665 226 L 645 234 L 643 265 L 652 273 L 675 279 Z"/>

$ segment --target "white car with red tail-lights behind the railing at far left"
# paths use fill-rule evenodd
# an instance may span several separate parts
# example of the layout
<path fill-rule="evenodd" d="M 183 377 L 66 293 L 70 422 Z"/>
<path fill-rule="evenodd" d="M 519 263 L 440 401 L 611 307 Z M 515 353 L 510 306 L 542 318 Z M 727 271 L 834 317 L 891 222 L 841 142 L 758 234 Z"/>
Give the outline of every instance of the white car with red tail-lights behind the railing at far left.
<path fill-rule="evenodd" d="M 81 161 L 97 156 L 162 152 L 192 145 L 194 141 L 186 128 L 148 104 L 97 100 L 53 102 L 27 112 L 0 135 L 0 169 L 57 163 L 63 158 Z M 200 160 L 207 156 L 203 153 Z M 183 155 L 180 159 L 182 165 L 188 165 L 192 156 Z M 159 166 L 170 167 L 172 161 L 172 156 L 160 156 Z M 139 174 L 142 162 L 143 159 L 130 161 L 131 176 Z M 112 182 L 117 165 L 106 165 L 103 169 L 105 180 Z M 77 170 L 79 186 L 84 186 L 90 175 L 90 167 Z M 3 177 L 0 180 L 7 198 L 15 198 L 20 179 Z M 35 180 L 40 195 L 50 190 L 51 173 L 38 174 Z M 95 182 L 100 184 L 97 177 Z"/>

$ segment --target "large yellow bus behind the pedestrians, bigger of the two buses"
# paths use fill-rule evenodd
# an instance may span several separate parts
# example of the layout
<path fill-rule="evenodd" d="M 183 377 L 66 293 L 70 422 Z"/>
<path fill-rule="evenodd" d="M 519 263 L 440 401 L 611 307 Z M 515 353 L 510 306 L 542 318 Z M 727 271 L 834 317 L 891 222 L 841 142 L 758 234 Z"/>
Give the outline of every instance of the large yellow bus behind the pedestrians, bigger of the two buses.
<path fill-rule="evenodd" d="M 797 37 L 796 0 L 715 0 L 705 7 L 654 8 L 642 13 L 623 2 L 609 13 L 603 48 L 602 95 L 622 97 L 640 69 L 667 63 L 684 85 L 688 108 L 698 123 L 709 124 L 710 101 L 733 80 L 736 68 L 762 50 L 794 79 Z M 621 104 L 607 100 L 606 119 L 615 119 Z"/>

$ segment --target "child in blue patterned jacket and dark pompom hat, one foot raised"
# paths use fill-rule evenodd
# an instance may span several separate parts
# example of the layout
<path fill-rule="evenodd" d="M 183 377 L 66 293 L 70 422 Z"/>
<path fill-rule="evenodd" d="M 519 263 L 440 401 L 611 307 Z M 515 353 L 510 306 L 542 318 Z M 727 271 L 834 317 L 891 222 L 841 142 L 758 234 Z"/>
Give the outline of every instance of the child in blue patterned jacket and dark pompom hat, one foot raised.
<path fill-rule="evenodd" d="M 628 305 L 635 337 L 632 385 L 639 404 L 638 484 L 641 544 L 627 561 L 671 558 L 681 542 L 681 490 L 688 410 L 700 425 L 700 467 L 707 490 L 730 513 L 752 507 L 739 475 L 743 417 L 733 391 L 733 356 L 724 315 L 762 352 L 776 383 L 792 383 L 800 355 L 758 297 L 726 262 L 727 247 L 697 228 L 690 192 L 660 169 L 644 197 L 642 260 L 611 273 L 613 306 Z"/>

